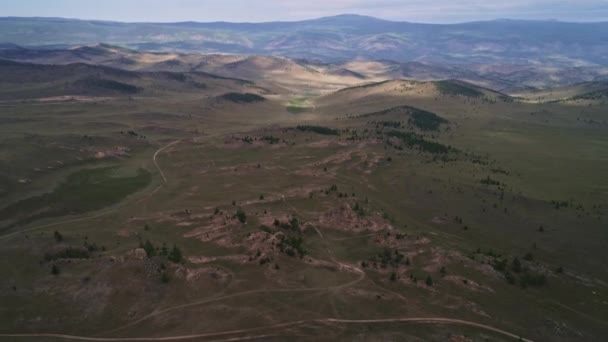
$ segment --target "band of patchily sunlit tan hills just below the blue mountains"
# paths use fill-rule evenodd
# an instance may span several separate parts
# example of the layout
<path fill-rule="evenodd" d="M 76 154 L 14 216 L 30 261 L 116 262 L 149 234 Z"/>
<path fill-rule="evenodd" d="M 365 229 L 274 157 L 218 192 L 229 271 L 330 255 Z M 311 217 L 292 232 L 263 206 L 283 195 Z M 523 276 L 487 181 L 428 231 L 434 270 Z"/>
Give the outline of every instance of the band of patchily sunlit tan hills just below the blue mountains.
<path fill-rule="evenodd" d="M 181 54 L 147 52 L 109 44 L 60 48 L 25 48 L 0 44 L 0 63 L 31 65 L 87 64 L 132 72 L 201 73 L 261 82 L 276 91 L 297 91 L 308 84 L 336 90 L 394 79 L 433 81 L 458 79 L 506 93 L 519 93 L 583 82 L 608 80 L 608 67 L 548 67 L 542 64 L 446 65 L 429 62 L 318 62 L 282 56 Z M 6 63 L 5 63 L 6 64 Z M 12 66 L 13 64 L 6 64 Z M 4 71 L 6 72 L 5 69 Z M 68 70 L 68 69 L 62 69 Z M 6 76 L 0 73 L 2 76 Z M 181 77 L 181 76 L 180 76 Z M 272 86 L 271 86 L 272 85 Z M 279 88 L 276 88 L 276 87 Z"/>

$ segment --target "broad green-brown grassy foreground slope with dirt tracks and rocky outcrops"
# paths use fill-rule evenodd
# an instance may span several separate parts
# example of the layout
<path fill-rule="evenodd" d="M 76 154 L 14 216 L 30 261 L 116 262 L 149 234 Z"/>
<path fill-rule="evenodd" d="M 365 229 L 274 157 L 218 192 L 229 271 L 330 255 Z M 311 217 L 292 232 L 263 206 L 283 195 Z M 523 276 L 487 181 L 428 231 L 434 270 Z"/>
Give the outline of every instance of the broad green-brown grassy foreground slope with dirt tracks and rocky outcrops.
<path fill-rule="evenodd" d="M 604 340 L 602 101 L 0 68 L 0 341 Z"/>

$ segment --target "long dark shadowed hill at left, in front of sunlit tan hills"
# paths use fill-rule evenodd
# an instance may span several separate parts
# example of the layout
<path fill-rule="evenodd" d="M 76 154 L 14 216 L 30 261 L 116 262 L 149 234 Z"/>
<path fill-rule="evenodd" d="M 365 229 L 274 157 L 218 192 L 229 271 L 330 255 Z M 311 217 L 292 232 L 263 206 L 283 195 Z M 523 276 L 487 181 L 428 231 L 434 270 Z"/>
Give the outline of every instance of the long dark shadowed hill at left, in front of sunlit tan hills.
<path fill-rule="evenodd" d="M 128 71 L 84 63 L 49 65 L 0 60 L 0 75 L 1 100 L 161 93 L 212 96 L 229 90 L 262 91 L 252 82 L 202 72 Z"/>

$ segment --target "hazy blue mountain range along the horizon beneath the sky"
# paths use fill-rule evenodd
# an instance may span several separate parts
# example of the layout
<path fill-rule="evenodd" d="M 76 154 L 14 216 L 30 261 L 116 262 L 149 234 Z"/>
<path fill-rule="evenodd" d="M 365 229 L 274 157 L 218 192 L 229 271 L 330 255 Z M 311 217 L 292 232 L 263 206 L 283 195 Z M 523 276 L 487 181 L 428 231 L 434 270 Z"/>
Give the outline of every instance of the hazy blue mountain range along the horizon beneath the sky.
<path fill-rule="evenodd" d="M 608 22 L 495 20 L 438 25 L 358 15 L 269 23 L 0 18 L 0 43 L 66 48 L 100 42 L 138 50 L 273 55 L 323 62 L 608 66 Z"/>

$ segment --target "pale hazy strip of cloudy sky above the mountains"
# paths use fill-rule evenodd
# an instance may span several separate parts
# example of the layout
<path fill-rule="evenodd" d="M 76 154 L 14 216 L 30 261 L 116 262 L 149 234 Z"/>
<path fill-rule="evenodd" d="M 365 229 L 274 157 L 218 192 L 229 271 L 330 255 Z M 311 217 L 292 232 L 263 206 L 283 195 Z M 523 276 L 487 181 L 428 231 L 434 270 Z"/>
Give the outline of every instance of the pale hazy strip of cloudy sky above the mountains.
<path fill-rule="evenodd" d="M 343 13 L 413 22 L 608 21 L 608 0 L 0 0 L 0 16 L 117 21 L 274 21 Z"/>

